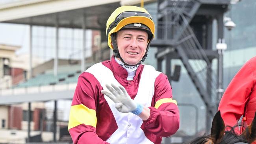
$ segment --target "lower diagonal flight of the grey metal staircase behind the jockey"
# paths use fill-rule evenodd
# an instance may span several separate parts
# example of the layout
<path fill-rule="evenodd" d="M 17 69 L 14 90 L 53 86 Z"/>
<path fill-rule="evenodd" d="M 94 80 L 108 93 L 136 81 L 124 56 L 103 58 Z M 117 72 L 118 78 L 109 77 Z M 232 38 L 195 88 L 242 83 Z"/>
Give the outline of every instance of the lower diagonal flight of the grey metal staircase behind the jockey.
<path fill-rule="evenodd" d="M 204 100 L 205 105 L 210 107 L 209 112 L 213 116 L 217 108 L 211 97 L 217 97 L 217 74 L 212 72 L 211 61 L 206 56 L 206 52 L 189 26 L 184 30 L 180 41 L 182 42 L 175 46 L 174 49 L 180 55 L 189 77 Z"/>

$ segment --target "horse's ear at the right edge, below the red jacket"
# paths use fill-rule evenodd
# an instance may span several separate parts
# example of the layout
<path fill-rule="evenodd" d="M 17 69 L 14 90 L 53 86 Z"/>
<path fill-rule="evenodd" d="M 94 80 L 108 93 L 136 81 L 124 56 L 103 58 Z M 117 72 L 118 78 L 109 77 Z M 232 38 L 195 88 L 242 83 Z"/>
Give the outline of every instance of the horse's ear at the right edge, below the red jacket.
<path fill-rule="evenodd" d="M 254 113 L 254 118 L 250 126 L 248 126 L 242 135 L 244 135 L 249 143 L 254 142 L 256 140 L 256 112 Z"/>

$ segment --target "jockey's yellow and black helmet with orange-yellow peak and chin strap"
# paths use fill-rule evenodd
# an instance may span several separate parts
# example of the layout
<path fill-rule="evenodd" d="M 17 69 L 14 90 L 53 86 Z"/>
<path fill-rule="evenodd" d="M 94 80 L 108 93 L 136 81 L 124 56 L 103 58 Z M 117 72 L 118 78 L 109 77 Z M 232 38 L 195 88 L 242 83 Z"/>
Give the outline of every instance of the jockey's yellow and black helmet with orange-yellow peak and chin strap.
<path fill-rule="evenodd" d="M 141 63 L 147 57 L 148 48 L 150 42 L 154 38 L 155 32 L 154 22 L 148 11 L 142 7 L 121 6 L 115 9 L 115 11 L 108 18 L 106 28 L 108 46 L 113 50 L 115 57 L 119 57 L 124 64 L 126 63 L 122 60 L 122 58 L 119 55 L 114 33 L 116 33 L 119 30 L 133 28 L 144 30 L 148 33 L 147 50 L 145 55 L 143 56 L 143 59 L 140 61 Z"/>

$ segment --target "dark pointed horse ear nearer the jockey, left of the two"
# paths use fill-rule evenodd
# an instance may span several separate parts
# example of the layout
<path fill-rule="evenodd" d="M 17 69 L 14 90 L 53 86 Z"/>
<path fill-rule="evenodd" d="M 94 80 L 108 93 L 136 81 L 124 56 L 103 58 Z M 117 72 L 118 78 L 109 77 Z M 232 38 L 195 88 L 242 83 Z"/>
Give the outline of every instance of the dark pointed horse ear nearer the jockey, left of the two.
<path fill-rule="evenodd" d="M 221 112 L 218 111 L 211 124 L 211 139 L 214 144 L 219 144 L 224 136 L 225 124 L 221 118 Z"/>

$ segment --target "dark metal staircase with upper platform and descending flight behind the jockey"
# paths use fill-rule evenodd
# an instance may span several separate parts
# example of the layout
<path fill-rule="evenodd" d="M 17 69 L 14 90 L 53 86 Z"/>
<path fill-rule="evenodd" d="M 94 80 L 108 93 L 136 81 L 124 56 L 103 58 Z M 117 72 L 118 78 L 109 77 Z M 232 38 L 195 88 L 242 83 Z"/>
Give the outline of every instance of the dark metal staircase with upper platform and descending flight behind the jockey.
<path fill-rule="evenodd" d="M 217 110 L 212 102 L 217 96 L 217 75 L 206 54 L 212 50 L 202 48 L 189 26 L 200 5 L 200 0 L 159 0 L 157 39 L 151 46 L 158 47 L 156 57 L 160 61 L 170 53 L 178 55 L 171 59 L 181 59 L 208 113 L 213 116 Z"/>

